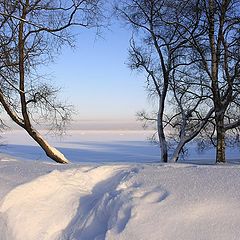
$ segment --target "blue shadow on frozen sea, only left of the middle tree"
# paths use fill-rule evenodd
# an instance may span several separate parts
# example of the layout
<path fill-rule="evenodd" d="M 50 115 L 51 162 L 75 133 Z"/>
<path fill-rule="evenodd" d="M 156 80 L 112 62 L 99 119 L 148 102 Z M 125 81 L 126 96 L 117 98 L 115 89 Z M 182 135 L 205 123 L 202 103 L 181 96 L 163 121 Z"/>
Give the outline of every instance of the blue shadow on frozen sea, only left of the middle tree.
<path fill-rule="evenodd" d="M 147 142 L 74 142 L 71 144 L 79 144 L 79 148 L 59 147 L 57 149 L 74 163 L 159 161 L 159 148 Z M 0 148 L 0 151 L 17 159 L 48 160 L 44 151 L 38 146 L 9 144 Z"/>

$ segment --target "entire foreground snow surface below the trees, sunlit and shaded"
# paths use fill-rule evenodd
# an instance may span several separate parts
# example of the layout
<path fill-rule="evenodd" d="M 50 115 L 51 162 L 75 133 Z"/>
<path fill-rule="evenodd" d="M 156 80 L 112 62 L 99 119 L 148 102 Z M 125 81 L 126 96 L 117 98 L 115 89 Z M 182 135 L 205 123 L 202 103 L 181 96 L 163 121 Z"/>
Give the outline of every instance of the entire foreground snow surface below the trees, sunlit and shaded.
<path fill-rule="evenodd" d="M 238 240 L 240 167 L 0 161 L 1 240 Z"/>

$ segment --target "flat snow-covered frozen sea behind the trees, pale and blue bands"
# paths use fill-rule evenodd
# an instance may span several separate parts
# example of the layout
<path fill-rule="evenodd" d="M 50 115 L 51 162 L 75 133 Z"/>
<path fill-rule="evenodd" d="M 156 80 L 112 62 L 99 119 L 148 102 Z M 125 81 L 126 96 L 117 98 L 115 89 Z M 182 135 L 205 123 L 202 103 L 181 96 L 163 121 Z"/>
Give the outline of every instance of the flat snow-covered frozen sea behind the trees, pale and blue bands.
<path fill-rule="evenodd" d="M 157 145 L 147 139 L 151 131 L 126 130 L 71 130 L 63 136 L 54 136 L 47 131 L 44 137 L 57 147 L 73 163 L 155 163 L 160 160 Z M 43 150 L 22 130 L 3 133 L 0 152 L 16 159 L 50 161 Z M 200 152 L 196 145 L 187 146 L 188 154 L 182 162 L 214 163 L 215 151 Z M 240 162 L 240 149 L 227 149 L 231 163 Z"/>

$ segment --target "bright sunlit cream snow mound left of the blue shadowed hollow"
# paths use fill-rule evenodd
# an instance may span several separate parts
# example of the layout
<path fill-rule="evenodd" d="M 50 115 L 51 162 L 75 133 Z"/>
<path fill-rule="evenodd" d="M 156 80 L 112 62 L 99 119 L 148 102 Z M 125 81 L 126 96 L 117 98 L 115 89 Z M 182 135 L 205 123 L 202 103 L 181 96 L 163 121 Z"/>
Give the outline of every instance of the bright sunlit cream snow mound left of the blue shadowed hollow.
<path fill-rule="evenodd" d="M 94 187 L 111 179 L 119 168 L 103 166 L 64 172 L 55 170 L 12 190 L 0 208 L 7 215 L 7 229 L 4 230 L 6 236 L 25 240 L 57 239 L 76 215 L 78 205 L 85 202 L 88 195 L 96 195 L 92 201 L 98 199 Z M 114 181 L 109 184 L 114 184 Z M 104 189 L 105 186 L 101 188 Z M 4 239 L 7 239 L 6 236 Z"/>

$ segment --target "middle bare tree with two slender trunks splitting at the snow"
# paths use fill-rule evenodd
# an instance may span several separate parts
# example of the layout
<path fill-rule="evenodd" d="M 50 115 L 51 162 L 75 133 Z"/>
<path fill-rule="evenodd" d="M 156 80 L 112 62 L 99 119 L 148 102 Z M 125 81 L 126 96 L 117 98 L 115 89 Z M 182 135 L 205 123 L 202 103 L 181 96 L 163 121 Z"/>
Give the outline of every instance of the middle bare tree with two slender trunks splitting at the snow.
<path fill-rule="evenodd" d="M 186 143 L 194 139 L 207 124 L 213 109 L 206 105 L 202 75 L 196 76 L 196 59 L 188 56 L 186 40 L 196 31 L 198 22 L 188 22 L 188 30 L 173 22 L 182 22 L 191 8 L 188 1 L 122 1 L 117 9 L 133 29 L 130 46 L 130 67 L 144 71 L 147 89 L 156 96 L 155 116 L 139 113 L 139 119 L 157 123 L 161 160 L 169 160 L 169 145 L 174 133 L 175 150 L 171 160 L 176 162 Z M 189 9 L 187 9 L 187 7 Z M 192 10 L 192 9 L 191 9 Z M 194 11 L 194 10 L 193 10 Z M 169 111 L 169 108 L 172 108 Z M 176 137 L 177 136 L 177 137 Z"/>

